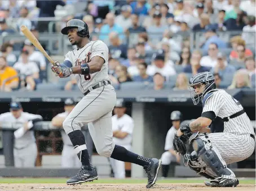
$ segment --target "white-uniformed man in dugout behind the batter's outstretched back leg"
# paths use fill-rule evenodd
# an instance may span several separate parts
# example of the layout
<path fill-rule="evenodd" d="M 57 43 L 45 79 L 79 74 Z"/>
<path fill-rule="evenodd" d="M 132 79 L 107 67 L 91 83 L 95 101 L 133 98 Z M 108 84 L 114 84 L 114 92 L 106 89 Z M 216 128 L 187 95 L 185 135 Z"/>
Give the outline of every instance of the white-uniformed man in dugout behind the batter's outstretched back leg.
<path fill-rule="evenodd" d="M 125 147 L 128 151 L 131 149 L 133 141 L 134 121 L 125 113 L 125 103 L 117 101 L 114 107 L 115 115 L 112 116 L 113 141 L 115 144 Z M 114 178 L 125 178 L 125 162 L 110 158 L 111 166 L 114 172 Z"/>

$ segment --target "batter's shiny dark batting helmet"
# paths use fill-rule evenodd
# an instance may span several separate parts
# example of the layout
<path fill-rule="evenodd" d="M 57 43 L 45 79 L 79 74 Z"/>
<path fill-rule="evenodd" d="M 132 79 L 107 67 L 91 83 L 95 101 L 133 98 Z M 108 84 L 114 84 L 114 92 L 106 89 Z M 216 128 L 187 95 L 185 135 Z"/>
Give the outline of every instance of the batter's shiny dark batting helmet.
<path fill-rule="evenodd" d="M 68 35 L 68 30 L 72 28 L 77 28 L 77 34 L 80 37 L 90 37 L 88 25 L 86 24 L 86 22 L 83 22 L 79 19 L 69 20 L 66 26 L 61 30 L 61 33 Z"/>

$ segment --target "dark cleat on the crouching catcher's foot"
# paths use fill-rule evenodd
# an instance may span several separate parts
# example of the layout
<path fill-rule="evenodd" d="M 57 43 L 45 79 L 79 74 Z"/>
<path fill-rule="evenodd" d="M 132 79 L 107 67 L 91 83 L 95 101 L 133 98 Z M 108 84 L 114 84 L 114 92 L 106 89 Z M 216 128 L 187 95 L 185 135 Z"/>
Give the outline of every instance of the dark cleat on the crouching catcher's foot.
<path fill-rule="evenodd" d="M 210 182 L 205 181 L 207 187 L 236 187 L 239 185 L 238 179 L 226 179 L 226 178 L 217 178 L 210 180 Z"/>

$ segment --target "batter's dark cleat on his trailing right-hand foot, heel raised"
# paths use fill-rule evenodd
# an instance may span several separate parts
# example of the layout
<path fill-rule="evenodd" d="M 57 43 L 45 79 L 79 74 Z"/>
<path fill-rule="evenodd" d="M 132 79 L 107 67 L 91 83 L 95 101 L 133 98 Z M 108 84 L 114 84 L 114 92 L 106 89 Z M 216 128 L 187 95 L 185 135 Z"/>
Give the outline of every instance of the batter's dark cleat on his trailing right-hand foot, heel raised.
<path fill-rule="evenodd" d="M 157 175 L 158 175 L 160 166 L 161 166 L 161 160 L 158 160 L 157 158 L 152 158 L 149 166 L 144 166 L 146 175 L 148 176 L 148 184 L 146 185 L 146 188 L 151 188 L 153 187 L 153 185 L 156 184 Z"/>

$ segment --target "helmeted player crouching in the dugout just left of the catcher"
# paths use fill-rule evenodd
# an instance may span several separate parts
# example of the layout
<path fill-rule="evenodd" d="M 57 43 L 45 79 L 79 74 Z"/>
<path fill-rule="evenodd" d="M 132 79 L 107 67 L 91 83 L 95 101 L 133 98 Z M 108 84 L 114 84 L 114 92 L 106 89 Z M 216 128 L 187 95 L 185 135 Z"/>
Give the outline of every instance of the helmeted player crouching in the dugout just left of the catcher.
<path fill-rule="evenodd" d="M 171 112 L 170 116 L 171 123 L 173 126 L 169 129 L 167 132 L 166 138 L 165 138 L 165 152 L 162 153 L 162 176 L 167 177 L 170 163 L 171 162 L 180 162 L 180 156 L 179 153 L 176 153 L 173 148 L 173 139 L 175 133 L 177 133 L 177 130 L 179 129 L 180 122 L 182 121 L 182 113 L 180 111 L 173 111 Z"/>

